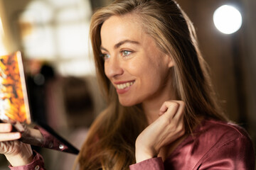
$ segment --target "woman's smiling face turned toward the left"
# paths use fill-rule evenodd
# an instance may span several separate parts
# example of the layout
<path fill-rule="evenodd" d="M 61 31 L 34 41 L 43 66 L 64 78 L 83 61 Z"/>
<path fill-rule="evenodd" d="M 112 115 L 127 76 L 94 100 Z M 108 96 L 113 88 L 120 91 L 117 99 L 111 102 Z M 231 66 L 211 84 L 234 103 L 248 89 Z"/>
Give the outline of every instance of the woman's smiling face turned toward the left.
<path fill-rule="evenodd" d="M 166 96 L 173 62 L 144 32 L 136 16 L 111 16 L 103 23 L 100 36 L 105 74 L 123 106 Z"/>

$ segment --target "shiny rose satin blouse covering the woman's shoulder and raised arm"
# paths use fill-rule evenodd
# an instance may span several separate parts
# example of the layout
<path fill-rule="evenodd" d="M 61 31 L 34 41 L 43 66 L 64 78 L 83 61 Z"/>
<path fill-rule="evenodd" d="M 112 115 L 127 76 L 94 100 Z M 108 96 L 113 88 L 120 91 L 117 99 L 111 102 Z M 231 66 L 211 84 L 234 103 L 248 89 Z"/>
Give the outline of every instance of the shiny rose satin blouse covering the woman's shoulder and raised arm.
<path fill-rule="evenodd" d="M 255 169 L 250 137 L 238 125 L 203 120 L 163 162 L 161 158 L 133 164 L 138 169 Z"/>

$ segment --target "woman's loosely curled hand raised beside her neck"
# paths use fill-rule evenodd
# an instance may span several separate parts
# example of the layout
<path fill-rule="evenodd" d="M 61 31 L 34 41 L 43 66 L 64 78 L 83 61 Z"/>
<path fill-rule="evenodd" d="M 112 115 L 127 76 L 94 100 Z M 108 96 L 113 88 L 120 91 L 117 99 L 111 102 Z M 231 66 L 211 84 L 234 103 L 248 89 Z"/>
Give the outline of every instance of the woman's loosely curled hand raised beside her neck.
<path fill-rule="evenodd" d="M 164 102 L 160 108 L 159 118 L 137 137 L 135 151 L 137 162 L 156 157 L 161 147 L 184 135 L 184 108 L 183 101 Z"/>

